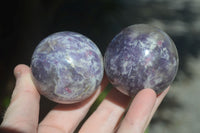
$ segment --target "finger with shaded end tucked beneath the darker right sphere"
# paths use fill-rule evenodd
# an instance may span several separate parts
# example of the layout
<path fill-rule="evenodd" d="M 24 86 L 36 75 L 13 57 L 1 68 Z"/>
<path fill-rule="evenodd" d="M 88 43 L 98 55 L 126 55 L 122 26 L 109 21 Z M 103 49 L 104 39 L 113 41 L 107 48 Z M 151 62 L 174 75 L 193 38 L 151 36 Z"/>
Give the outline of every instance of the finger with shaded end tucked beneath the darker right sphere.
<path fill-rule="evenodd" d="M 97 110 L 84 123 L 80 133 L 114 132 L 130 100 L 130 97 L 112 89 Z"/>

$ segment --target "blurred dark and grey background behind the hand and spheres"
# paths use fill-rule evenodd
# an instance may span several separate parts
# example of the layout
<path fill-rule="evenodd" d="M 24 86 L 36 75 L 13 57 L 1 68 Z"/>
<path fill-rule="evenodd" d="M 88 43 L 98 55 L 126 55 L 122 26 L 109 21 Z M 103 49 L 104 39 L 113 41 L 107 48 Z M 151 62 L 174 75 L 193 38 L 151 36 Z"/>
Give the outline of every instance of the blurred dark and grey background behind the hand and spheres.
<path fill-rule="evenodd" d="M 178 75 L 148 132 L 199 133 L 200 0 L 15 0 L 4 1 L 0 10 L 0 122 L 15 85 L 14 67 L 29 65 L 44 37 L 79 32 L 103 54 L 123 28 L 146 23 L 171 36 L 180 58 Z"/>

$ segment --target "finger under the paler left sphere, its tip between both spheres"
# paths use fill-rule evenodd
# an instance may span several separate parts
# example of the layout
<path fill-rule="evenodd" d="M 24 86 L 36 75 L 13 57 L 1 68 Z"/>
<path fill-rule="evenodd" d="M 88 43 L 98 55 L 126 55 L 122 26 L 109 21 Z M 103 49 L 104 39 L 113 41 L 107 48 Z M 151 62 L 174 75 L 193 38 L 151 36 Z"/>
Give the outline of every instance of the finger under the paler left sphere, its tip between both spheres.
<path fill-rule="evenodd" d="M 104 76 L 95 94 L 81 103 L 60 104 L 51 110 L 39 125 L 39 133 L 72 133 L 87 114 L 90 106 L 108 84 Z"/>

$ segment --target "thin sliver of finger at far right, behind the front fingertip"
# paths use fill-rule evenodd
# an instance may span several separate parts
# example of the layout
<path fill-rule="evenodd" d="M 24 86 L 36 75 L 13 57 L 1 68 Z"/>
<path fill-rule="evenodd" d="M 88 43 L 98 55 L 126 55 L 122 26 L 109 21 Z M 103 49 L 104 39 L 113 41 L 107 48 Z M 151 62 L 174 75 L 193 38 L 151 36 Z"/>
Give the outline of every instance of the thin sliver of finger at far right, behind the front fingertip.
<path fill-rule="evenodd" d="M 168 91 L 169 91 L 170 87 L 168 87 L 167 89 L 165 89 L 160 95 L 157 96 L 156 98 L 156 103 L 151 111 L 151 115 L 148 118 L 148 121 L 145 124 L 145 129 L 147 128 L 147 126 L 149 125 L 154 113 L 156 112 L 156 110 L 158 109 L 159 105 L 161 104 L 161 102 L 163 101 L 164 97 L 167 95 Z"/>

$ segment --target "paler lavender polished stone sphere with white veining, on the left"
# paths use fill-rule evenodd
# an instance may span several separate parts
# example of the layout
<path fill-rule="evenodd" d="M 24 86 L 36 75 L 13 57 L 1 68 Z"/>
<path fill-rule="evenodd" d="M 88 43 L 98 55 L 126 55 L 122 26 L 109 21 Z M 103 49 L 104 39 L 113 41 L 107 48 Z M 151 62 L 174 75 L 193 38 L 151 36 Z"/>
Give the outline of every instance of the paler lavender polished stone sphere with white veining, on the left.
<path fill-rule="evenodd" d="M 98 47 L 75 32 L 54 33 L 40 42 L 31 61 L 38 91 L 57 103 L 76 103 L 91 96 L 103 77 Z"/>

